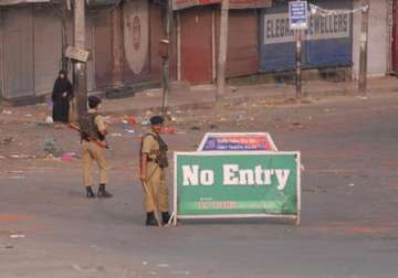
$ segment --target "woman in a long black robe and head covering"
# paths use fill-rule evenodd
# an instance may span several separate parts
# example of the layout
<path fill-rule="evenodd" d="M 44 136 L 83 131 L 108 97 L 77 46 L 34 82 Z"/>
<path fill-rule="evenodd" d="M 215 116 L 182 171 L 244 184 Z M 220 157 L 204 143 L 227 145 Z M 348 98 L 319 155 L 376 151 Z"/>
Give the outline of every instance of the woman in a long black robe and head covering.
<path fill-rule="evenodd" d="M 67 79 L 66 72 L 60 71 L 51 95 L 53 101 L 53 120 L 55 122 L 69 122 L 70 100 L 72 98 L 72 83 Z"/>

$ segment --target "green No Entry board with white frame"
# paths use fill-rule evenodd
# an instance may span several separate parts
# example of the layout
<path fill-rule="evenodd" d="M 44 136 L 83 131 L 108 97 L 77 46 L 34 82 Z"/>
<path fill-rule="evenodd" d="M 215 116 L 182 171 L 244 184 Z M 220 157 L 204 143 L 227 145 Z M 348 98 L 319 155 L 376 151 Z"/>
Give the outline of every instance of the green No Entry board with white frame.
<path fill-rule="evenodd" d="M 177 218 L 281 217 L 300 223 L 300 152 L 176 152 Z"/>

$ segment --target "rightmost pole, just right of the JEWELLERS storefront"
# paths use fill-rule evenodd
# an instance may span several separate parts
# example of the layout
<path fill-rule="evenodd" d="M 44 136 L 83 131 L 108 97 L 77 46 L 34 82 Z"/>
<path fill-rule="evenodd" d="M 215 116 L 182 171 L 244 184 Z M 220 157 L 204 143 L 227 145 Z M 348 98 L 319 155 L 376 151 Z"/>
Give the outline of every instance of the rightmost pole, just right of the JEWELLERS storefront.
<path fill-rule="evenodd" d="M 367 87 L 367 46 L 369 29 L 369 0 L 363 0 L 360 23 L 359 78 L 358 90 L 366 95 Z"/>

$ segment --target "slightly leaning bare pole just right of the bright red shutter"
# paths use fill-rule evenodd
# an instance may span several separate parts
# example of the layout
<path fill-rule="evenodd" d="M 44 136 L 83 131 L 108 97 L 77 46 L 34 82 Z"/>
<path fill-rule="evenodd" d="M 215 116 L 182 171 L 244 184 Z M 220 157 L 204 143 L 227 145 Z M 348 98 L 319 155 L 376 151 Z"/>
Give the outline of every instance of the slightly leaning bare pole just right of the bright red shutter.
<path fill-rule="evenodd" d="M 216 99 L 218 100 L 226 90 L 226 68 L 227 68 L 227 51 L 228 51 L 228 15 L 229 15 L 229 0 L 221 0 L 221 17 L 220 17 L 220 42 L 217 67 L 217 90 Z"/>

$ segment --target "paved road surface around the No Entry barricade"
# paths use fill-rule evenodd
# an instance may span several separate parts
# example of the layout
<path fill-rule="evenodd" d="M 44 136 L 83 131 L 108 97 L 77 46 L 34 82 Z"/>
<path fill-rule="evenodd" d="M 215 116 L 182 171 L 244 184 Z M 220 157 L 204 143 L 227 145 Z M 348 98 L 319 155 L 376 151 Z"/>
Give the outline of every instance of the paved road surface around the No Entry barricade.
<path fill-rule="evenodd" d="M 219 128 L 270 130 L 280 149 L 302 151 L 301 226 L 255 220 L 147 228 L 130 168 L 111 172 L 115 197 L 86 200 L 75 165 L 32 162 L 24 178 L 0 177 L 0 277 L 397 277 L 398 96 L 247 106 L 226 108 Z M 233 124 L 243 110 L 251 124 Z M 193 149 L 205 131 L 168 141 Z M 118 156 L 128 161 L 135 151 Z"/>

